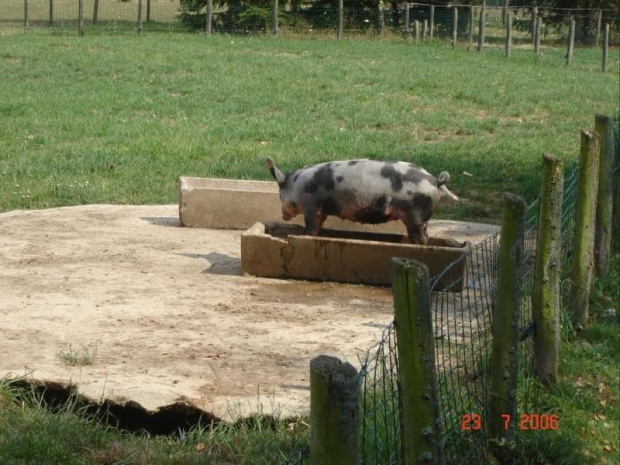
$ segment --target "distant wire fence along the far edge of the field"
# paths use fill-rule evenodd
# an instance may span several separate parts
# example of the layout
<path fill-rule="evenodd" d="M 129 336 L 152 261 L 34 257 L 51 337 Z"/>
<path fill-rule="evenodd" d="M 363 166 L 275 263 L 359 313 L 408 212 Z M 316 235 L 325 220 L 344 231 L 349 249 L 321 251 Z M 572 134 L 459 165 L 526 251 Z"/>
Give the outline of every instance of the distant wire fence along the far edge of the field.
<path fill-rule="evenodd" d="M 81 1 L 87 29 L 137 29 L 139 12 L 145 31 L 206 29 L 207 0 Z M 0 29 L 77 28 L 79 3 L 80 0 L 0 0 Z M 274 0 L 214 0 L 212 3 L 214 32 L 270 34 L 274 30 Z M 480 5 L 446 3 L 344 0 L 340 11 L 334 0 L 279 0 L 276 17 L 278 31 L 283 35 L 327 33 L 335 37 L 341 28 L 349 36 L 387 34 L 417 37 L 422 41 L 451 41 L 456 32 L 457 42 L 468 43 L 478 41 L 482 15 L 484 42 L 493 44 L 505 41 L 506 13 L 510 12 L 514 25 L 512 40 L 516 46 L 533 43 L 536 18 L 541 21 L 542 44 L 564 43 L 571 19 L 577 24 L 577 43 L 600 44 L 601 28 L 606 23 L 610 25 L 610 43 L 620 43 L 620 10 L 542 6 L 535 10 L 531 5 L 506 9 L 499 2 L 487 1 L 483 11 Z"/>

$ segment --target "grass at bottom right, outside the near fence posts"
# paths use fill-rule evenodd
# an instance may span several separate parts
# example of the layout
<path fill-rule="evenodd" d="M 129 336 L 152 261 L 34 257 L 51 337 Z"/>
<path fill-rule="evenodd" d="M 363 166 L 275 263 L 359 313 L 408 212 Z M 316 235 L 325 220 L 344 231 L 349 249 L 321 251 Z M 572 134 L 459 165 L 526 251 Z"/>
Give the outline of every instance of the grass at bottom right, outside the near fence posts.
<path fill-rule="evenodd" d="M 557 431 L 521 431 L 516 457 L 524 463 L 620 463 L 620 255 L 612 272 L 595 279 L 590 324 L 563 328 L 560 376 L 550 390 L 529 381 L 524 413 L 553 413 Z"/>

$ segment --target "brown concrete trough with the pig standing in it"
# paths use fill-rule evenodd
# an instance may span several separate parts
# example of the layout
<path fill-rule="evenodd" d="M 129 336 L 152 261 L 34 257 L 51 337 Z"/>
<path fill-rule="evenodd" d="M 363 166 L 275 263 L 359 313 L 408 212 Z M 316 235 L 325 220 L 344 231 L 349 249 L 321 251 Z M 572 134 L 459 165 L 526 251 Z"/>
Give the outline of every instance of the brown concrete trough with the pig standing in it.
<path fill-rule="evenodd" d="M 305 236 L 301 225 L 257 222 L 241 235 L 241 269 L 267 278 L 390 285 L 392 257 L 419 260 L 437 276 L 470 248 L 469 242 L 439 238 L 424 246 L 402 242 L 401 234 L 322 229 L 319 236 Z M 452 265 L 437 289 L 462 291 L 465 267 L 466 260 Z"/>

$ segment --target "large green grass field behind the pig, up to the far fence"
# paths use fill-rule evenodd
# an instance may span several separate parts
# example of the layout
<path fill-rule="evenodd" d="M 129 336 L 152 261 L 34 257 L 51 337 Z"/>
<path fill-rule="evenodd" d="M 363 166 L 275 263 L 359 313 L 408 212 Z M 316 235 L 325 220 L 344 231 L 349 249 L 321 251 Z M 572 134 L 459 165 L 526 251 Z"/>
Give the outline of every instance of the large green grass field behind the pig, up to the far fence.
<path fill-rule="evenodd" d="M 538 194 L 544 152 L 619 98 L 618 52 L 541 59 L 395 41 L 30 33 L 0 42 L 0 211 L 174 203 L 180 175 L 269 179 L 331 159 L 452 173 L 438 216 L 496 221 L 500 193 Z M 463 173 L 471 174 L 472 176 Z"/>

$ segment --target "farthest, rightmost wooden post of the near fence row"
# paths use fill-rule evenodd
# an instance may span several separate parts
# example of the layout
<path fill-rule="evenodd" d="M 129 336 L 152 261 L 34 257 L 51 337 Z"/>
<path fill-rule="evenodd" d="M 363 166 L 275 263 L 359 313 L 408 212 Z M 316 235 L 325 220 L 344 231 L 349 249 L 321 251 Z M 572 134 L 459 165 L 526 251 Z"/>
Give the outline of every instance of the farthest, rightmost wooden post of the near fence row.
<path fill-rule="evenodd" d="M 609 274 L 612 238 L 614 191 L 614 133 L 611 118 L 596 115 L 594 130 L 600 137 L 598 194 L 596 201 L 596 228 L 594 238 L 594 263 L 596 274 L 605 278 Z M 618 231 L 620 233 L 620 231 Z"/>

